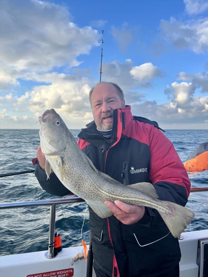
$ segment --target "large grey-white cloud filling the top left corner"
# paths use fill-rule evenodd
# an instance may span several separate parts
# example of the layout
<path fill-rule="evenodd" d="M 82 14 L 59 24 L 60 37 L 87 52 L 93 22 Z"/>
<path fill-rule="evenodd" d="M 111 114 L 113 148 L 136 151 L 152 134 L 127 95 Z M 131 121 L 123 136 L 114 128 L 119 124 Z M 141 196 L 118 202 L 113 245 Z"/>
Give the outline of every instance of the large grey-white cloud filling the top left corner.
<path fill-rule="evenodd" d="M 7 66 L 39 72 L 78 66 L 76 58 L 99 45 L 97 30 L 79 28 L 66 7 L 38 0 L 23 2 L 1 1 L 0 51 Z"/>

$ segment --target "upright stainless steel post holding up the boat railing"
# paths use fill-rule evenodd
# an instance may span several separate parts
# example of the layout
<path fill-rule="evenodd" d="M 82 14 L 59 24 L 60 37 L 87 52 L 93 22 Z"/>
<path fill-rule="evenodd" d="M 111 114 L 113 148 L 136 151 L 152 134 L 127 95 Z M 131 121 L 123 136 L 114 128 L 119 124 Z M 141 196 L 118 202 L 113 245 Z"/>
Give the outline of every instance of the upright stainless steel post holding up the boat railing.
<path fill-rule="evenodd" d="M 48 251 L 45 253 L 45 257 L 47 259 L 53 259 L 58 254 L 58 253 L 54 253 L 54 236 L 55 236 L 55 204 L 52 204 L 50 206 Z"/>

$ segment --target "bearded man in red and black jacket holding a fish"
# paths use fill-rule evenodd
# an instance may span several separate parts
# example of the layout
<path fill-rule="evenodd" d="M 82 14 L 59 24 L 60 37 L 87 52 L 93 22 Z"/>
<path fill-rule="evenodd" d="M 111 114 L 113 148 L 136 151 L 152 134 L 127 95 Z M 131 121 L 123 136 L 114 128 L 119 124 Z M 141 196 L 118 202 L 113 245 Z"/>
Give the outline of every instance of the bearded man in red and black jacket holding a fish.
<path fill-rule="evenodd" d="M 99 83 L 91 89 L 89 99 L 94 121 L 82 129 L 78 145 L 95 167 L 124 185 L 152 183 L 160 200 L 185 206 L 190 181 L 157 122 L 133 117 L 122 90 L 114 83 Z M 37 157 L 35 175 L 43 189 L 55 195 L 68 194 L 54 173 L 47 180 L 40 148 Z M 105 201 L 105 205 L 114 213 L 107 219 L 89 207 L 97 277 L 179 276 L 178 239 L 169 233 L 156 210 L 120 201 Z"/>

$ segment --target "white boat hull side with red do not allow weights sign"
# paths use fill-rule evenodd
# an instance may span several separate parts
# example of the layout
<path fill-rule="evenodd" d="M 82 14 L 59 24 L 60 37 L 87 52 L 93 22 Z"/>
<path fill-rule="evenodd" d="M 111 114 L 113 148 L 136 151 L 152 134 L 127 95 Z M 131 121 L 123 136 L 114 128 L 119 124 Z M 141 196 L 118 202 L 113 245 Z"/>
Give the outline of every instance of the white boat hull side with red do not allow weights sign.
<path fill-rule="evenodd" d="M 198 239 L 208 238 L 208 230 L 181 234 L 180 277 L 198 277 Z M 83 250 L 82 246 L 63 248 L 54 259 L 46 259 L 46 251 L 7 255 L 0 257 L 1 277 L 86 277 L 85 259 L 77 260 L 71 266 L 71 259 Z M 170 249 L 171 251 L 171 249 Z M 96 277 L 93 271 L 93 277 Z"/>

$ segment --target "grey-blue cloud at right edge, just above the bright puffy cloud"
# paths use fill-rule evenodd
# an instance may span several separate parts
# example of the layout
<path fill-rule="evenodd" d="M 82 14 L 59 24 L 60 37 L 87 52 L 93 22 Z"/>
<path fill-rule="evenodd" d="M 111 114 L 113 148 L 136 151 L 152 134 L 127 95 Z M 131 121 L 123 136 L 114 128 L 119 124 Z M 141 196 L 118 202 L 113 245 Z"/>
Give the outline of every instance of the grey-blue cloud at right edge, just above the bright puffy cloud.
<path fill-rule="evenodd" d="M 185 72 L 179 72 L 177 74 L 178 80 L 189 80 L 193 83 L 196 88 L 201 88 L 201 92 L 208 92 L 208 72 L 197 73 L 197 74 L 187 74 Z"/>

